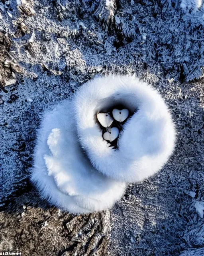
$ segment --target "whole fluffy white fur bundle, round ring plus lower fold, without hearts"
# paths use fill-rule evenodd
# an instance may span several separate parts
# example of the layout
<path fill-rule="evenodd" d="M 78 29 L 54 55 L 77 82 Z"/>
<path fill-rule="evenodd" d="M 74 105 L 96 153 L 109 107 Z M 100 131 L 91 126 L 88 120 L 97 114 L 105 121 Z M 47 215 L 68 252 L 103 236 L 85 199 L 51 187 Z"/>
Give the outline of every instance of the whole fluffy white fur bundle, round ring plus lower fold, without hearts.
<path fill-rule="evenodd" d="M 117 104 L 134 114 L 115 150 L 102 138 L 96 115 Z M 173 121 L 156 90 L 135 76 L 96 78 L 45 113 L 30 178 L 41 197 L 59 208 L 77 214 L 100 211 L 120 199 L 125 182 L 161 169 L 174 144 Z"/>

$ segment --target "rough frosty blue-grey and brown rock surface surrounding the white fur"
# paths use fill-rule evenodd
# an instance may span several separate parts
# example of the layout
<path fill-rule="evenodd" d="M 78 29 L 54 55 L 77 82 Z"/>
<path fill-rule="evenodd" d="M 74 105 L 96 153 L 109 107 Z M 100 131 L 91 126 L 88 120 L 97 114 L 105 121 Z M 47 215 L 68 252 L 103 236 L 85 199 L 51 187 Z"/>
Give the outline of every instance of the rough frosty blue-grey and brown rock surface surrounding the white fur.
<path fill-rule="evenodd" d="M 202 255 L 202 7 L 19 0 L 2 1 L 0 14 L 0 250 Z M 45 108 L 111 72 L 135 73 L 161 92 L 177 126 L 177 147 L 163 170 L 129 186 L 112 210 L 71 216 L 40 200 L 29 183 L 35 131 Z"/>

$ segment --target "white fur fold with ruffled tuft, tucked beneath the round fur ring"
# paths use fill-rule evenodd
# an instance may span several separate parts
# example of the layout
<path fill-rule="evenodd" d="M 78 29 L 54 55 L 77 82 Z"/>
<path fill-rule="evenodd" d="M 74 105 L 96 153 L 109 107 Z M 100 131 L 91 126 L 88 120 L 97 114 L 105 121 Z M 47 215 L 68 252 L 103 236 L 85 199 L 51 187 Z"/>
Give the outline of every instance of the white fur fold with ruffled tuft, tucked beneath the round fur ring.
<path fill-rule="evenodd" d="M 110 208 L 126 184 L 98 172 L 80 148 L 73 104 L 63 101 L 45 113 L 34 154 L 31 181 L 42 198 L 76 214 Z"/>

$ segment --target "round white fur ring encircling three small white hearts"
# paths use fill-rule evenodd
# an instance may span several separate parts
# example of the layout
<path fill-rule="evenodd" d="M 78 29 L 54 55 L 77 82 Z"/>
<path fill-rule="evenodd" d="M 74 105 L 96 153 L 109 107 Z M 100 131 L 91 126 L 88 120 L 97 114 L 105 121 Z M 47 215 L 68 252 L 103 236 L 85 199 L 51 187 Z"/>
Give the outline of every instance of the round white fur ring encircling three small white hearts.
<path fill-rule="evenodd" d="M 118 150 L 102 138 L 98 112 L 116 104 L 135 112 L 124 124 Z M 73 99 L 77 134 L 92 165 L 108 177 L 137 182 L 162 168 L 173 152 L 175 128 L 164 100 L 150 85 L 135 76 L 95 78 L 84 84 Z"/>

